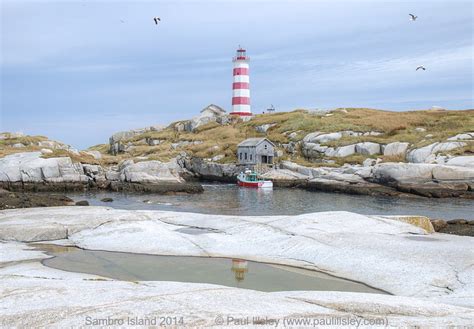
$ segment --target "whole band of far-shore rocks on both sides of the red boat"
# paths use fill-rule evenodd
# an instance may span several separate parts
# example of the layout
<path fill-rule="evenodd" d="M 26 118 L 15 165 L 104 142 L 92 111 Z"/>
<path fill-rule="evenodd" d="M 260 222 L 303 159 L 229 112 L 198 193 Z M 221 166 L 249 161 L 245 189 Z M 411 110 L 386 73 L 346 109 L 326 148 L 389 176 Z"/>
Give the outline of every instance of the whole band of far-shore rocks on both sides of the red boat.
<path fill-rule="evenodd" d="M 305 167 L 282 161 L 262 176 L 275 187 L 357 195 L 474 199 L 474 156 L 459 165 L 371 163 Z M 454 158 L 455 160 L 457 158 Z M 456 163 L 456 162 L 454 162 Z M 17 153 L 0 159 L 0 187 L 22 192 L 93 189 L 143 193 L 201 193 L 199 181 L 235 182 L 244 166 L 220 164 L 185 154 L 169 162 L 125 160 L 116 166 L 74 163 L 70 158 Z"/>

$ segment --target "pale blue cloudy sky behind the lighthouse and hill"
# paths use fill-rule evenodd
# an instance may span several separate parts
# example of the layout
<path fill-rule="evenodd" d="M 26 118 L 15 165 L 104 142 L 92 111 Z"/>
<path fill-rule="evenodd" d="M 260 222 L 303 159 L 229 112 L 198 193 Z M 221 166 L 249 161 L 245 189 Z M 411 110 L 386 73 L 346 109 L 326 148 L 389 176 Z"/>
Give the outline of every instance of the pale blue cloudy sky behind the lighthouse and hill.
<path fill-rule="evenodd" d="M 230 111 L 239 45 L 254 113 L 474 108 L 472 1 L 0 2 L 0 131 L 80 149 Z"/>

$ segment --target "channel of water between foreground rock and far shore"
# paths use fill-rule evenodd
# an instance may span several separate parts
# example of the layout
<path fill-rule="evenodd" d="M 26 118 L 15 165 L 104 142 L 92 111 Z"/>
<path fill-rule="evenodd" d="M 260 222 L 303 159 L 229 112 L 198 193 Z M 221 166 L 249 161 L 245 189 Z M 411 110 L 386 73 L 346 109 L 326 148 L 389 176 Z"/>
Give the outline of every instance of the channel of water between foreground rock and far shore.
<path fill-rule="evenodd" d="M 150 195 L 123 193 L 71 194 L 91 205 L 121 209 L 155 209 L 219 215 L 296 215 L 318 211 L 352 211 L 366 215 L 424 215 L 431 218 L 474 219 L 474 201 L 462 199 L 388 198 L 310 192 L 301 189 L 273 190 L 207 184 L 202 194 Z M 114 202 L 100 200 L 111 197 Z M 144 202 L 145 201 L 145 202 Z"/>

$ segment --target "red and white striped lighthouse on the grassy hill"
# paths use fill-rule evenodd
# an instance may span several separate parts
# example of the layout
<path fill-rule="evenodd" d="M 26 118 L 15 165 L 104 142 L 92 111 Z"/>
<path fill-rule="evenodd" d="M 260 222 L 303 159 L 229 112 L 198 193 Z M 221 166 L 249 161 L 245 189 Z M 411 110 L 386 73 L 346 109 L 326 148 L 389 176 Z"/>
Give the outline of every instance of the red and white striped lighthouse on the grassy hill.
<path fill-rule="evenodd" d="M 250 110 L 250 84 L 249 61 L 245 49 L 239 47 L 234 62 L 234 81 L 232 84 L 232 112 L 230 114 L 249 116 Z"/>

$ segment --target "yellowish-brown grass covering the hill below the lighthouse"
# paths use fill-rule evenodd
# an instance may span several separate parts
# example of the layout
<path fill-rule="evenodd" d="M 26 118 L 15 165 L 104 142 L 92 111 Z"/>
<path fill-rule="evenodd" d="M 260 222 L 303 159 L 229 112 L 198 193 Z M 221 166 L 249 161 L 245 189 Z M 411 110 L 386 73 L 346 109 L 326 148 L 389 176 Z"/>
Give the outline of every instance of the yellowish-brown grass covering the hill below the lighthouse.
<path fill-rule="evenodd" d="M 210 122 L 198 127 L 195 132 L 178 132 L 174 126 L 178 122 L 172 123 L 169 127 L 161 131 L 147 131 L 136 135 L 129 140 L 123 140 L 127 145 L 131 143 L 134 147 L 126 153 L 116 156 L 108 154 L 109 145 L 99 144 L 89 148 L 89 150 L 99 151 L 103 154 L 100 161 L 81 153 L 80 156 L 54 151 L 53 156 L 71 156 L 73 161 L 102 163 L 104 165 L 117 164 L 122 160 L 138 157 L 147 157 L 150 160 L 168 161 L 183 151 L 187 154 L 212 158 L 219 154 L 225 157 L 219 162 L 229 163 L 236 160 L 237 144 L 250 137 L 267 137 L 275 144 L 288 143 L 289 133 L 296 132 L 293 141 L 301 140 L 311 132 L 337 132 L 352 130 L 357 132 L 377 131 L 383 133 L 381 136 L 345 136 L 337 141 L 327 143 L 328 146 L 338 147 L 359 142 L 376 142 L 388 144 L 391 142 L 408 142 L 410 147 L 422 147 L 434 142 L 446 141 L 448 137 L 463 132 L 474 131 L 474 110 L 464 111 L 410 111 L 410 112 L 390 112 L 368 108 L 345 108 L 331 112 L 330 116 L 317 114 L 311 111 L 298 109 L 292 112 L 277 112 L 272 114 L 258 114 L 250 121 L 242 121 L 239 118 L 232 118 L 229 124 L 220 125 Z M 275 124 L 267 132 L 258 133 L 256 127 L 264 124 Z M 426 131 L 418 131 L 416 128 L 424 128 Z M 431 137 L 426 137 L 432 135 Z M 163 142 L 159 145 L 149 146 L 147 139 L 159 139 Z M 37 151 L 40 147 L 31 145 L 41 140 L 47 140 L 43 136 L 25 136 L 16 139 L 0 140 L 0 156 L 16 152 Z M 173 148 L 173 143 L 180 141 L 202 141 L 201 144 L 190 144 L 187 146 Z M 29 144 L 26 148 L 12 148 L 15 143 Z M 279 148 L 281 149 L 281 148 Z M 474 154 L 474 145 L 456 149 L 449 152 L 452 155 Z M 400 157 L 382 157 L 383 161 L 403 161 Z M 299 164 L 308 166 L 339 166 L 343 163 L 362 163 L 367 158 L 362 155 L 353 155 L 346 158 L 325 158 L 332 159 L 335 164 L 308 161 L 301 157 L 301 153 L 290 155 L 284 153 L 281 159 L 288 159 Z M 322 159 L 320 159 L 322 160 Z M 140 161 L 140 160 L 138 160 Z"/>

